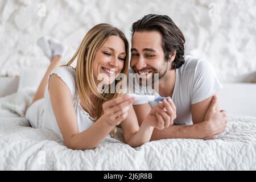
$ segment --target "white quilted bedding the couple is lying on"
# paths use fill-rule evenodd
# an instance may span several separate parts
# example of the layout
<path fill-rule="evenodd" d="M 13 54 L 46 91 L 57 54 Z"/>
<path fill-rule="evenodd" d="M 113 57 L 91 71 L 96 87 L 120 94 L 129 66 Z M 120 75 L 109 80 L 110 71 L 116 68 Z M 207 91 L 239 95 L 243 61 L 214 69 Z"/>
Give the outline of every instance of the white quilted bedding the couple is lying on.
<path fill-rule="evenodd" d="M 94 150 L 70 150 L 54 133 L 30 127 L 33 92 L 0 98 L 0 170 L 256 170 L 256 118 L 229 115 L 215 140 L 165 139 L 132 148 L 107 137 Z"/>

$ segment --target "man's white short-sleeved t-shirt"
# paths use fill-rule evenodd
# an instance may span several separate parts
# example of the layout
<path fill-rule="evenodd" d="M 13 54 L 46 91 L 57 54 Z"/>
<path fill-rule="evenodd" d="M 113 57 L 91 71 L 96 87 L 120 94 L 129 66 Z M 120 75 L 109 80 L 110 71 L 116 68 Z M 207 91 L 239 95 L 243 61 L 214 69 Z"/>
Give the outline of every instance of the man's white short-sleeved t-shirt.
<path fill-rule="evenodd" d="M 146 86 L 129 86 L 130 92 L 133 88 L 133 93 L 160 96 L 158 92 L 150 90 Z M 141 89 L 138 90 L 138 88 Z M 177 114 L 174 123 L 176 125 L 192 125 L 191 105 L 206 100 L 220 89 L 222 89 L 222 85 L 209 61 L 189 55 L 185 56 L 185 63 L 176 69 L 176 81 L 172 94 Z M 133 105 L 146 103 L 146 101 L 135 101 Z M 158 102 L 153 101 L 149 104 L 154 107 Z"/>

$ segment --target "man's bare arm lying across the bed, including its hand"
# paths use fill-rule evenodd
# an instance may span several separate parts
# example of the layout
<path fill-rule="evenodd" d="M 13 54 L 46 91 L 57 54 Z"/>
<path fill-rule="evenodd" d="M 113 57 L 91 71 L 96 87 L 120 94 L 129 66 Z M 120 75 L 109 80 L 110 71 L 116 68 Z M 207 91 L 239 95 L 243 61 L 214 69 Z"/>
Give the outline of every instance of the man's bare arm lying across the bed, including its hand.
<path fill-rule="evenodd" d="M 151 140 L 167 139 L 167 138 L 194 138 L 202 139 L 223 132 L 225 129 L 226 118 L 225 112 L 216 112 L 217 98 L 214 97 L 210 102 L 204 122 L 198 122 L 190 126 L 171 125 L 170 127 L 158 130 L 154 129 Z M 147 114 L 150 113 L 149 104 L 134 105 L 134 111 L 137 114 L 139 125 L 144 121 Z M 217 126 L 219 125 L 219 126 Z M 222 132 L 221 132 L 222 131 Z"/>

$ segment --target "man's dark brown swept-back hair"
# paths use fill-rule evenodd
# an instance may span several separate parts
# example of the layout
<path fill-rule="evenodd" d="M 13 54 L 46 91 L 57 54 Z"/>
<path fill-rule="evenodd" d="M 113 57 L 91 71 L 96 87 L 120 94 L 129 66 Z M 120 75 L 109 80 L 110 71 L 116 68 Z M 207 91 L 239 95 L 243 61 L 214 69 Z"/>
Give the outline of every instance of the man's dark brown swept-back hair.
<path fill-rule="evenodd" d="M 172 62 L 171 69 L 181 67 L 185 63 L 184 60 L 184 44 L 185 38 L 180 29 L 167 15 L 148 14 L 137 22 L 133 23 L 131 32 L 138 31 L 159 31 L 163 36 L 164 59 L 170 59 L 170 53 L 176 51 L 176 57 Z"/>

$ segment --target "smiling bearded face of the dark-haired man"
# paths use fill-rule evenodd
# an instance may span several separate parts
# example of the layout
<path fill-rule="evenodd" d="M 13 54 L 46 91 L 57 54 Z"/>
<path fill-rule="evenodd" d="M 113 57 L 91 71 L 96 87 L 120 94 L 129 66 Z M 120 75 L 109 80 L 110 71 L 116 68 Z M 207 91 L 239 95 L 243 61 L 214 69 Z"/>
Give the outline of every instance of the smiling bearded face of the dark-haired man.
<path fill-rule="evenodd" d="M 142 79 L 151 77 L 154 73 L 162 78 L 168 71 L 168 62 L 164 60 L 163 37 L 158 31 L 135 32 L 131 41 L 131 69 Z M 156 81 L 156 80 L 155 80 Z"/>

